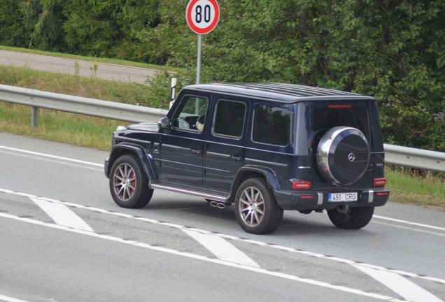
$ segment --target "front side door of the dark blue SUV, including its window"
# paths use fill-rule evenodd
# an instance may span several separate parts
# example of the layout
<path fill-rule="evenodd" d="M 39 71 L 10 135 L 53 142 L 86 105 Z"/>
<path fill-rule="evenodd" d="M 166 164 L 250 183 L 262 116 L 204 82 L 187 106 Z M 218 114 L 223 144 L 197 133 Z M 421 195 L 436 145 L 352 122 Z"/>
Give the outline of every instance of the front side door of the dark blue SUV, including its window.
<path fill-rule="evenodd" d="M 183 96 L 171 119 L 171 131 L 160 143 L 160 182 L 180 187 L 199 187 L 204 183 L 204 124 L 209 97 Z"/>

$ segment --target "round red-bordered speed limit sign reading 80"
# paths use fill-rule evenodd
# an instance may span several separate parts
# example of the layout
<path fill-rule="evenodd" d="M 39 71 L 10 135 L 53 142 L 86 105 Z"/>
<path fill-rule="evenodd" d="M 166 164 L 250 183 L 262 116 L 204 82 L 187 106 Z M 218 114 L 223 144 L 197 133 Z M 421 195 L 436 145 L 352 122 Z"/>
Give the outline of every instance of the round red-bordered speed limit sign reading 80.
<path fill-rule="evenodd" d="M 220 20 L 216 0 L 190 0 L 185 10 L 187 24 L 197 34 L 209 34 Z"/>

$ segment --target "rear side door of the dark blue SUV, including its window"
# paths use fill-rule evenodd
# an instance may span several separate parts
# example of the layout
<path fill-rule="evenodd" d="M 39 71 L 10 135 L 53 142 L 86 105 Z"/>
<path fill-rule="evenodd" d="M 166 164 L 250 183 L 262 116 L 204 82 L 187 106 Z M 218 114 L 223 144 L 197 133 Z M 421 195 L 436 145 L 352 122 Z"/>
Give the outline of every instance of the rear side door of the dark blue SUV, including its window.
<path fill-rule="evenodd" d="M 248 101 L 219 99 L 214 111 L 205 150 L 205 185 L 208 189 L 229 192 L 244 161 Z"/>

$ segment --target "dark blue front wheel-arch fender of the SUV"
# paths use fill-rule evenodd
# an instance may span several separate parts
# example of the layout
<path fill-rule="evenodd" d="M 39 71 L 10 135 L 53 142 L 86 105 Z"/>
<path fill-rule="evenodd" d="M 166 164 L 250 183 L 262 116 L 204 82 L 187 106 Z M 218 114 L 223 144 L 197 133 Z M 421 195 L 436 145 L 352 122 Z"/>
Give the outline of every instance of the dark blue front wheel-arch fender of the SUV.
<path fill-rule="evenodd" d="M 126 142 L 114 145 L 111 149 L 110 156 L 105 159 L 104 169 L 107 178 L 110 177 L 110 170 L 116 159 L 126 154 L 134 154 L 139 157 L 143 171 L 145 171 L 148 179 L 157 178 L 157 173 L 155 173 L 155 169 L 153 169 L 153 159 L 150 158 L 150 154 L 147 154 L 146 150 L 140 145 Z"/>

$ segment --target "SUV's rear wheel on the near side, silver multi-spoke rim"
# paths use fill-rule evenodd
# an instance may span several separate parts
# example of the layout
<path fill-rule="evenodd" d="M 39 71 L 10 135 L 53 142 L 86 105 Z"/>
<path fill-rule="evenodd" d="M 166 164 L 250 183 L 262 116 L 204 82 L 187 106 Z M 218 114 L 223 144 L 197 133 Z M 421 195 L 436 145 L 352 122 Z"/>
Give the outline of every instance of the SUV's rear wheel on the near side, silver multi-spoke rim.
<path fill-rule="evenodd" d="M 283 219 L 283 209 L 261 178 L 250 178 L 238 188 L 235 215 L 241 229 L 247 233 L 266 234 L 275 231 Z"/>

